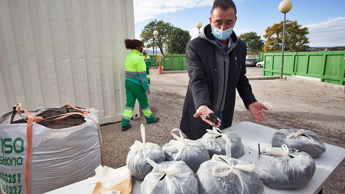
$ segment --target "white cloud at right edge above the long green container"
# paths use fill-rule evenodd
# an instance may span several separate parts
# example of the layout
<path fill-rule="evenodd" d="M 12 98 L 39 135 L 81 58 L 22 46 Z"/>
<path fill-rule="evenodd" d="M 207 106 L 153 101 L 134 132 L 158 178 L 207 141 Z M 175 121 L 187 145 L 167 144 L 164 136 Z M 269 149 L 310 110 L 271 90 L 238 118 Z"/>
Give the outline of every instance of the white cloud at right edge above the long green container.
<path fill-rule="evenodd" d="M 309 30 L 309 46 L 345 46 L 345 17 L 303 25 Z"/>

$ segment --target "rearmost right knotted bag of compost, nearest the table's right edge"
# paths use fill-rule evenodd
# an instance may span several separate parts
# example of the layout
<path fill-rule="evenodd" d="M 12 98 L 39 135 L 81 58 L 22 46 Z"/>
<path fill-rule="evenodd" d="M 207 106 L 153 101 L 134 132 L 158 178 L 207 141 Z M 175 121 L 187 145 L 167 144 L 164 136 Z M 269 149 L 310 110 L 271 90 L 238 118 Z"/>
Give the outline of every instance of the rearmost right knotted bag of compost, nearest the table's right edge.
<path fill-rule="evenodd" d="M 306 152 L 313 158 L 326 151 L 321 138 L 311 130 L 279 129 L 272 137 L 272 147 L 280 147 L 283 144 Z"/>

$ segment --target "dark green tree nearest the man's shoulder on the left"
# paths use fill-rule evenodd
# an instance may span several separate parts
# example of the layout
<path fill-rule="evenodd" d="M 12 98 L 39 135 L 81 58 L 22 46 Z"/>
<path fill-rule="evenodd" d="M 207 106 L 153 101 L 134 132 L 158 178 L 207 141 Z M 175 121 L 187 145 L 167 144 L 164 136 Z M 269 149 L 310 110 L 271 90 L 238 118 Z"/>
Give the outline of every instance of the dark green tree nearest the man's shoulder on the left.
<path fill-rule="evenodd" d="M 188 41 L 191 39 L 189 31 L 174 28 L 165 41 L 165 50 L 170 54 L 185 54 Z"/>

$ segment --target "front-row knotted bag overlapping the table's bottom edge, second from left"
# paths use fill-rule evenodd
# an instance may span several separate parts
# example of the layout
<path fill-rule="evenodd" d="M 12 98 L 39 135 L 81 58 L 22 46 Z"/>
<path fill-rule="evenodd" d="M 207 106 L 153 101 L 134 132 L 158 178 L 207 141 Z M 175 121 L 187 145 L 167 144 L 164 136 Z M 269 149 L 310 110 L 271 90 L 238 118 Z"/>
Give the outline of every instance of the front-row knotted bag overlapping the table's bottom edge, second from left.
<path fill-rule="evenodd" d="M 261 194 L 264 186 L 254 172 L 254 164 L 229 156 L 213 155 L 200 165 L 196 177 L 200 194 Z"/>

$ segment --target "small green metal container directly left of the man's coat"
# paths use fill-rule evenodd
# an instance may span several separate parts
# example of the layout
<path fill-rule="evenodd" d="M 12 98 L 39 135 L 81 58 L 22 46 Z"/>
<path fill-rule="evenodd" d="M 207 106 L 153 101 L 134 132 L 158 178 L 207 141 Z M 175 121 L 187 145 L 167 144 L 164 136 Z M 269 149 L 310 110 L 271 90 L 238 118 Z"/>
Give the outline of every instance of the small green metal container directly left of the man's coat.
<path fill-rule="evenodd" d="M 163 71 L 187 70 L 186 54 L 163 55 L 160 65 Z"/>

